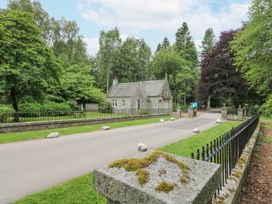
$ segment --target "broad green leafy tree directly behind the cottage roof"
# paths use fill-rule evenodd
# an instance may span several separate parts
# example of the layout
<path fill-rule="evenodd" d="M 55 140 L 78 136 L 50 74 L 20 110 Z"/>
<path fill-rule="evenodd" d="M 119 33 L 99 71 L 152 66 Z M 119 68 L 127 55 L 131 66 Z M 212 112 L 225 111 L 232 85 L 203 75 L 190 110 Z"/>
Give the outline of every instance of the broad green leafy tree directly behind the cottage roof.
<path fill-rule="evenodd" d="M 122 82 L 143 81 L 148 78 L 151 49 L 143 39 L 127 38 L 120 48 L 120 72 Z"/>

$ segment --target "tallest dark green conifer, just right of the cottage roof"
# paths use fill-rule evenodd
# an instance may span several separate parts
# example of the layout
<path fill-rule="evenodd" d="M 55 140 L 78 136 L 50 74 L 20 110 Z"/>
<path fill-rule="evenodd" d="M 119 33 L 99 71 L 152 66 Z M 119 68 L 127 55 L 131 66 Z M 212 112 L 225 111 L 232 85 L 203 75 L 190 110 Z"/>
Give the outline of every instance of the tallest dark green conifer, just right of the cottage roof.
<path fill-rule="evenodd" d="M 192 40 L 188 25 L 183 22 L 176 33 L 175 48 L 180 56 L 191 63 L 192 68 L 198 67 L 198 58 L 195 43 Z"/>

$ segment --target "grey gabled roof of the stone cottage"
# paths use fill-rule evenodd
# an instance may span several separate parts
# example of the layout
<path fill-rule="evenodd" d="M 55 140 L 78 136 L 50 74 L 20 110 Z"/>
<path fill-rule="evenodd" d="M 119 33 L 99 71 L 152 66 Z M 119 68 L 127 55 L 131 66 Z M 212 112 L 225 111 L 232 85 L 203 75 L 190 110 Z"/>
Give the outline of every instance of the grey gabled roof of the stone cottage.
<path fill-rule="evenodd" d="M 139 81 L 130 83 L 119 83 L 112 86 L 108 97 L 131 97 L 137 93 L 141 95 L 160 96 L 166 80 Z"/>

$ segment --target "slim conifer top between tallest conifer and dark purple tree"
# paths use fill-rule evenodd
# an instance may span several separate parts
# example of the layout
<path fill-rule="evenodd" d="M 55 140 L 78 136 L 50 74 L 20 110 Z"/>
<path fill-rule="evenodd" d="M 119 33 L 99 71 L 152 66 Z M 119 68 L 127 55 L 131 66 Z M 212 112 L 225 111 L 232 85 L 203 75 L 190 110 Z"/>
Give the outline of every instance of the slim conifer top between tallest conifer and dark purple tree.
<path fill-rule="evenodd" d="M 204 58 L 215 45 L 215 34 L 212 28 L 208 28 L 201 41 L 201 58 Z"/>

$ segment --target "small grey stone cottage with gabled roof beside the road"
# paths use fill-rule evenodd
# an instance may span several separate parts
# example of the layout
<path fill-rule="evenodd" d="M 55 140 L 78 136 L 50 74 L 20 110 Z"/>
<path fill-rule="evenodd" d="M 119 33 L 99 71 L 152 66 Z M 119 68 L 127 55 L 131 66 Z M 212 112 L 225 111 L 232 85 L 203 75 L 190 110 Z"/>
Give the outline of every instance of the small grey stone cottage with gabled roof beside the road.
<path fill-rule="evenodd" d="M 150 114 L 172 111 L 172 95 L 167 80 L 118 83 L 114 80 L 107 95 L 115 113 Z"/>

